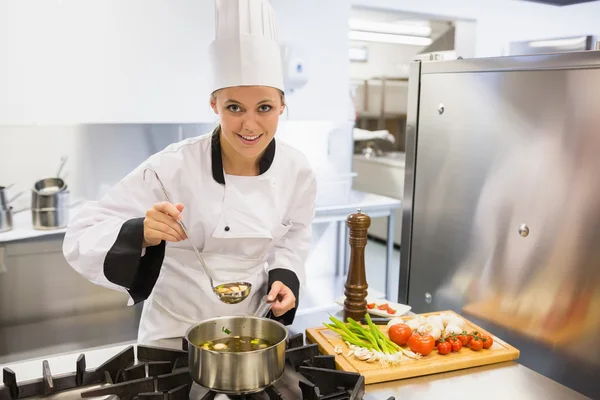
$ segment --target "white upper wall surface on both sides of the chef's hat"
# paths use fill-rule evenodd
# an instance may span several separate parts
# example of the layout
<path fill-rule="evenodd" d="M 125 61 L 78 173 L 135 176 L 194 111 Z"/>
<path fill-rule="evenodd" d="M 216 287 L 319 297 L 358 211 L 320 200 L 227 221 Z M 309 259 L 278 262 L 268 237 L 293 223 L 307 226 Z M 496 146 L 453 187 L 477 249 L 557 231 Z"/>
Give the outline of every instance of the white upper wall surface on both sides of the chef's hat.
<path fill-rule="evenodd" d="M 348 2 L 273 5 L 310 71 L 289 118 L 345 120 Z M 212 122 L 213 37 L 214 0 L 1 0 L 0 124 Z"/>

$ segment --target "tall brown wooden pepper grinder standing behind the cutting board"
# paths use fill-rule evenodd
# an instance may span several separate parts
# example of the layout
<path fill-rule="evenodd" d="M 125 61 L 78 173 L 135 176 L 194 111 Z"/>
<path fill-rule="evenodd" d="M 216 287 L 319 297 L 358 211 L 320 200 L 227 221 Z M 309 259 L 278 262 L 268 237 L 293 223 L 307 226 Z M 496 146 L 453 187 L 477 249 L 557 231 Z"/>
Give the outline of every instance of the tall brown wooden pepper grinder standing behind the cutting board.
<path fill-rule="evenodd" d="M 350 230 L 350 268 L 344 294 L 344 321 L 348 317 L 358 321 L 367 314 L 367 273 L 365 270 L 365 247 L 371 218 L 360 209 L 346 219 Z"/>

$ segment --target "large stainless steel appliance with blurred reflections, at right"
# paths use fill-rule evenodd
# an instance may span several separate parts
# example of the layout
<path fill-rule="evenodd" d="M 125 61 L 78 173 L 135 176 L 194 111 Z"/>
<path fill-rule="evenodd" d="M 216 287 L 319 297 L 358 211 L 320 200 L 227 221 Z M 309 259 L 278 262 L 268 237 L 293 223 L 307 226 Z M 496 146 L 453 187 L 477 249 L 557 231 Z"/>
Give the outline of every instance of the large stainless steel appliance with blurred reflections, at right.
<path fill-rule="evenodd" d="M 412 64 L 399 301 L 600 394 L 600 52 Z"/>

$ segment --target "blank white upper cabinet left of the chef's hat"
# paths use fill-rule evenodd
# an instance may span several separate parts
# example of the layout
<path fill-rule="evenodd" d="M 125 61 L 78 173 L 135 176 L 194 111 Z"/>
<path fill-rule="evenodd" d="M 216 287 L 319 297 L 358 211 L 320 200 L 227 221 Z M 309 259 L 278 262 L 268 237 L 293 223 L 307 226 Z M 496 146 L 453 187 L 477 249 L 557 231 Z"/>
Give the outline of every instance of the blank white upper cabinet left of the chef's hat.
<path fill-rule="evenodd" d="M 0 2 L 0 125 L 214 120 L 213 1 Z"/>

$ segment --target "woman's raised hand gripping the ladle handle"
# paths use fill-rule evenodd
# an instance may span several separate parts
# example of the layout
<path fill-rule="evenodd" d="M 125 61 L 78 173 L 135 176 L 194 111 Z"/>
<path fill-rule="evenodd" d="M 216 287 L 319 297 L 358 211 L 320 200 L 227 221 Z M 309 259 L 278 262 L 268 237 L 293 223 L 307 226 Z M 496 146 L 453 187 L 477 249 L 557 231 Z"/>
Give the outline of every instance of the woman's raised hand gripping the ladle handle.
<path fill-rule="evenodd" d="M 187 239 L 179 225 L 183 204 L 156 203 L 146 211 L 144 219 L 144 247 L 157 246 L 161 241 L 179 242 Z"/>

